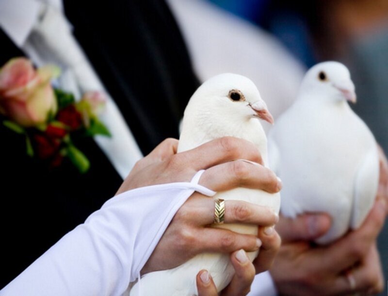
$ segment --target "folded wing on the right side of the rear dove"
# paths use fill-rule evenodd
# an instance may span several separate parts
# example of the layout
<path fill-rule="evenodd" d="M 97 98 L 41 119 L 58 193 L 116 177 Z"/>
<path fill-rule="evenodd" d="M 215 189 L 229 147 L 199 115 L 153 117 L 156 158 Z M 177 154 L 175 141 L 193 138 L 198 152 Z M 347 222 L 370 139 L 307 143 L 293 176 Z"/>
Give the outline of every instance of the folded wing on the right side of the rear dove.
<path fill-rule="evenodd" d="M 374 145 L 364 157 L 356 174 L 354 203 L 350 227 L 358 228 L 372 208 L 379 180 L 377 147 Z"/>

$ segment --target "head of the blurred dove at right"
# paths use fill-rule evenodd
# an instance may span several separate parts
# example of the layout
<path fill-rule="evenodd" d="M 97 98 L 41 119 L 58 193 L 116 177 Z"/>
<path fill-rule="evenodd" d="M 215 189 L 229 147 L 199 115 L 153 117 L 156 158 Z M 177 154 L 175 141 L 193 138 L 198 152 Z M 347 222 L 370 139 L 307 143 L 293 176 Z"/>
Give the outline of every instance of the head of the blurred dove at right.
<path fill-rule="evenodd" d="M 307 71 L 301 85 L 301 94 L 356 103 L 355 85 L 348 68 L 332 61 L 319 63 Z"/>

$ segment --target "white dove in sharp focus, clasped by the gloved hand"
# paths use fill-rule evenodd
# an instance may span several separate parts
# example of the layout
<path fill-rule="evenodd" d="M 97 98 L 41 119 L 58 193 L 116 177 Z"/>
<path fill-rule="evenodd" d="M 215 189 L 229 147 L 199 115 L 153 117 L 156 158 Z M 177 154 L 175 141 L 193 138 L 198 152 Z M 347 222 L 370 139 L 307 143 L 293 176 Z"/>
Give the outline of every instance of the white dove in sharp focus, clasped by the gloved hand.
<path fill-rule="evenodd" d="M 267 138 L 259 118 L 273 122 L 265 102 L 255 84 L 244 76 L 221 74 L 204 82 L 191 97 L 182 122 L 178 152 L 200 146 L 212 139 L 234 136 L 251 141 L 259 149 L 264 164 L 267 163 Z M 280 194 L 261 190 L 236 188 L 217 193 L 214 199 L 245 200 L 271 207 L 277 214 Z M 222 224 L 216 227 L 258 234 L 255 226 Z M 251 261 L 258 251 L 247 253 Z M 230 282 L 234 269 L 229 255 L 204 253 L 170 270 L 146 274 L 141 279 L 141 296 L 194 296 L 197 295 L 195 277 L 207 269 L 220 291 Z M 137 296 L 138 285 L 131 290 Z"/>

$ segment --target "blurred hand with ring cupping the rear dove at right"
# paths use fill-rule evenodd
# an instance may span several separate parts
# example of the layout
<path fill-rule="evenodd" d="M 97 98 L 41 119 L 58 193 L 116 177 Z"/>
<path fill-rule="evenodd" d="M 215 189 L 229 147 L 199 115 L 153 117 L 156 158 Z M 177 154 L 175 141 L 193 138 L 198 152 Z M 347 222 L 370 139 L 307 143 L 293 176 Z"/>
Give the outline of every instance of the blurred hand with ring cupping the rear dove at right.
<path fill-rule="evenodd" d="M 325 214 L 305 214 L 295 220 L 281 217 L 276 229 L 283 244 L 270 269 L 280 295 L 346 295 L 376 293 L 383 288 L 376 237 L 384 224 L 386 202 L 376 199 L 358 230 L 328 246 L 309 241 L 330 227 Z M 351 271 L 355 287 L 346 276 Z"/>

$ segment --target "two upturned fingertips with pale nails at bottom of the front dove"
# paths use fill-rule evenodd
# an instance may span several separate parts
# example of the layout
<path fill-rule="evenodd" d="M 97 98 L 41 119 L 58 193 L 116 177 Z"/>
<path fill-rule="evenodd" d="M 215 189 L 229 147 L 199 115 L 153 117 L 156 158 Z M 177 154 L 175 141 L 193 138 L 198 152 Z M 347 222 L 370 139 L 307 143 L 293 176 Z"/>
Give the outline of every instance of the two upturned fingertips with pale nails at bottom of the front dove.
<path fill-rule="evenodd" d="M 249 261 L 244 250 L 230 255 L 230 262 L 235 274 L 229 285 L 221 292 L 221 296 L 247 295 L 255 278 L 255 267 Z M 198 296 L 218 296 L 217 288 L 207 270 L 201 270 L 196 277 Z"/>

